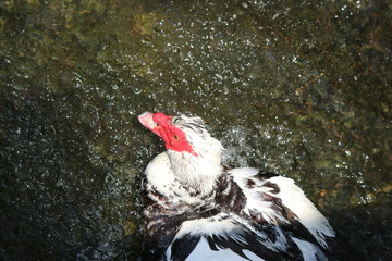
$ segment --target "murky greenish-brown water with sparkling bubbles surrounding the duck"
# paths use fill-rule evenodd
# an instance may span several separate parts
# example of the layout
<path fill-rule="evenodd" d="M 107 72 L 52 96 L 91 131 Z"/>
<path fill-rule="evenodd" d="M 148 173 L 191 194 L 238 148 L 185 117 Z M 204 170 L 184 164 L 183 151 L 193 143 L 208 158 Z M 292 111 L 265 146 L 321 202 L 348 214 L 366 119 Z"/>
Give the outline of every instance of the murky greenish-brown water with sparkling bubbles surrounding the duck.
<path fill-rule="evenodd" d="M 392 259 L 390 1 L 0 1 L 0 260 L 142 260 L 144 111 L 293 177 Z"/>

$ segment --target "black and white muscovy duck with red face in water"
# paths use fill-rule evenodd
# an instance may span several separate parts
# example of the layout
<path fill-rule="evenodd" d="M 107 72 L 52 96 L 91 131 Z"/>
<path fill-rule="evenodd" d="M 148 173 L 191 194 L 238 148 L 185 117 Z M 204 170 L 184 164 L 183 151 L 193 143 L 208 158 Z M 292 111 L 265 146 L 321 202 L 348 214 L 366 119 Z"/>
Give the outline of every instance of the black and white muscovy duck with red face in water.
<path fill-rule="evenodd" d="M 287 177 L 221 163 L 200 117 L 145 112 L 167 151 L 147 166 L 148 260 L 340 260 L 335 233 Z"/>

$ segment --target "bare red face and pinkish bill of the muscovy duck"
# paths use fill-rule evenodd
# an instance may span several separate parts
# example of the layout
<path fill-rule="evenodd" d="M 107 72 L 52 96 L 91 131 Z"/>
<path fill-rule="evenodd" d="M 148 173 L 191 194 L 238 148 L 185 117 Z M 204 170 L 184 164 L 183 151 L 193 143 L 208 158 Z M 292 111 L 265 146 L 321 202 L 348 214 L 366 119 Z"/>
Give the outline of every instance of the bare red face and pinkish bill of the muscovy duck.
<path fill-rule="evenodd" d="M 139 122 L 149 130 L 161 137 L 164 146 L 169 150 L 179 152 L 189 152 L 193 156 L 197 153 L 193 150 L 192 146 L 186 140 L 183 130 L 171 124 L 172 116 L 164 115 L 163 113 L 145 112 L 138 116 Z"/>

